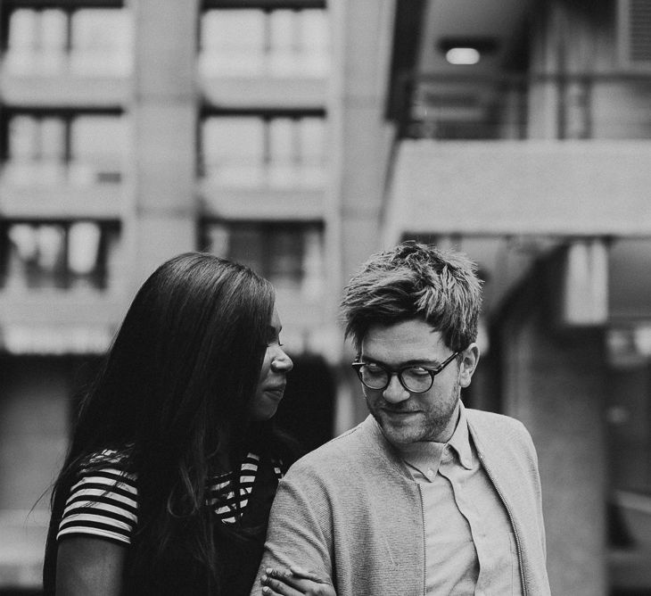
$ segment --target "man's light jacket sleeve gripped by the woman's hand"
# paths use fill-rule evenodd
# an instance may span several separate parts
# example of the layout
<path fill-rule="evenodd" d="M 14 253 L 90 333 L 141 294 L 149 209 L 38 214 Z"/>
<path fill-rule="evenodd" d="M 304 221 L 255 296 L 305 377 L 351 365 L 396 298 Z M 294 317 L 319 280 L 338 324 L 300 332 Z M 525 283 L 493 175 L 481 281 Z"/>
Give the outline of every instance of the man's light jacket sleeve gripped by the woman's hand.
<path fill-rule="evenodd" d="M 278 485 L 251 596 L 262 593 L 260 575 L 267 567 L 299 565 L 334 582 L 331 519 L 324 485 L 310 470 L 294 465 Z"/>

